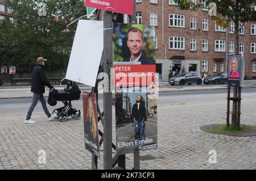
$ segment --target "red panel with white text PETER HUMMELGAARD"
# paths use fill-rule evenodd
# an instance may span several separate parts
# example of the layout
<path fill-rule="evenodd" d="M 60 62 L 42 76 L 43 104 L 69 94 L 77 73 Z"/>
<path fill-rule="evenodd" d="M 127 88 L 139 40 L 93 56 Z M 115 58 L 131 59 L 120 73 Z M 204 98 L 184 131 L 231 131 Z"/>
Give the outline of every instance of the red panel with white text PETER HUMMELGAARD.
<path fill-rule="evenodd" d="M 115 87 L 155 85 L 155 65 L 114 65 Z"/>

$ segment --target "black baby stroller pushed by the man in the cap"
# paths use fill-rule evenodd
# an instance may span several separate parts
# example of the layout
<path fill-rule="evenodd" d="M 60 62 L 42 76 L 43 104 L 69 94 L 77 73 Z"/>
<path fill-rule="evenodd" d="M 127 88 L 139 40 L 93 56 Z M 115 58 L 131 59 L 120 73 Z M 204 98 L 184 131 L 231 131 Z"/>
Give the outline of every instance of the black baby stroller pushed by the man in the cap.
<path fill-rule="evenodd" d="M 72 106 L 71 100 L 79 100 L 81 91 L 75 82 L 69 81 L 64 91 L 58 91 L 56 89 L 51 89 L 49 91 L 48 104 L 51 106 L 55 106 L 57 104 L 57 100 L 63 102 L 64 106 L 57 108 L 52 111 L 52 113 L 56 113 L 57 118 L 60 121 L 67 121 L 68 116 L 79 120 L 81 118 L 81 111 L 77 110 Z"/>

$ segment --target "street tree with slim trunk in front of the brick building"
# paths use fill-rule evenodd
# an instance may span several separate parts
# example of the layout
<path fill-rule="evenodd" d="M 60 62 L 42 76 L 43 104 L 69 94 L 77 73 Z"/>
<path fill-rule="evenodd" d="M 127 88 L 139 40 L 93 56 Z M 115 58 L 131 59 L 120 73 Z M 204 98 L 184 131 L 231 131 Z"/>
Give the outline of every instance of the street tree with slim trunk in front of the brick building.
<path fill-rule="evenodd" d="M 230 22 L 234 22 L 235 49 L 239 53 L 239 32 L 246 22 L 256 21 L 256 11 L 251 6 L 255 6 L 255 0 L 200 0 L 195 5 L 191 0 L 174 0 L 178 3 L 180 9 L 188 10 L 197 9 L 199 7 L 208 7 L 210 2 L 216 3 L 217 16 L 211 16 L 212 20 L 216 20 L 216 24 L 221 27 L 228 28 Z M 242 26 L 240 27 L 240 23 Z M 237 98 L 237 87 L 234 87 L 234 98 Z M 233 102 L 232 111 L 232 128 L 240 129 L 240 122 L 237 119 L 237 102 Z"/>

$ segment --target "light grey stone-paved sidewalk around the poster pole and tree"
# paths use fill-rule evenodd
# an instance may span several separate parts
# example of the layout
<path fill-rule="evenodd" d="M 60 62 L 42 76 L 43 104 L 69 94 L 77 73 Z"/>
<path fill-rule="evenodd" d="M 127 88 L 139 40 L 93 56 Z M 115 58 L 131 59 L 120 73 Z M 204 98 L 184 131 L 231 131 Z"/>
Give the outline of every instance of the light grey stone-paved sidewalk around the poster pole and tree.
<path fill-rule="evenodd" d="M 243 99 L 241 123 L 256 126 L 255 109 L 255 96 Z M 158 104 L 158 111 L 158 149 L 141 151 L 141 158 L 151 158 L 141 161 L 141 169 L 256 169 L 256 137 L 200 130 L 202 125 L 225 123 L 226 100 L 171 104 L 170 99 L 170 104 Z M 82 119 L 61 123 L 47 121 L 43 113 L 33 117 L 37 123 L 27 125 L 23 114 L 0 116 L 0 170 L 91 168 Z M 113 142 L 114 125 L 113 120 Z M 38 162 L 40 150 L 46 151 L 46 164 Z M 217 163 L 209 163 L 211 150 Z M 126 158 L 127 169 L 132 169 L 133 154 Z M 103 151 L 98 167 L 103 169 Z"/>

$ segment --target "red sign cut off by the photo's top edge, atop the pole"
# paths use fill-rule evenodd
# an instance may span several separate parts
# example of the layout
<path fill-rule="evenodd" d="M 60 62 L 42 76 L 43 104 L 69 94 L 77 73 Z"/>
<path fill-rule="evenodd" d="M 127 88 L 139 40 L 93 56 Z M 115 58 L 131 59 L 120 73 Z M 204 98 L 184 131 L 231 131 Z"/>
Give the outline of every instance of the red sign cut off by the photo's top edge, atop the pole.
<path fill-rule="evenodd" d="M 86 7 L 133 15 L 133 0 L 85 0 Z"/>

